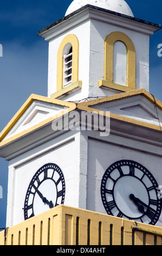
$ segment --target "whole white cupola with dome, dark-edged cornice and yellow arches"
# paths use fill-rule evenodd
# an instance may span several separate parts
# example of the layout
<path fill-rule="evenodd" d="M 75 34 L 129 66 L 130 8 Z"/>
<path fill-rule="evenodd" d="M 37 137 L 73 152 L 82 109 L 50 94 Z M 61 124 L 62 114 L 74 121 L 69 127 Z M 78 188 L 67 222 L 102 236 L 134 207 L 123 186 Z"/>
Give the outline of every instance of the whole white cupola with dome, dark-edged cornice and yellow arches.
<path fill-rule="evenodd" d="M 124 0 L 74 0 L 62 19 L 38 32 L 49 41 L 48 97 L 149 91 L 149 40 L 159 28 L 134 18 Z"/>

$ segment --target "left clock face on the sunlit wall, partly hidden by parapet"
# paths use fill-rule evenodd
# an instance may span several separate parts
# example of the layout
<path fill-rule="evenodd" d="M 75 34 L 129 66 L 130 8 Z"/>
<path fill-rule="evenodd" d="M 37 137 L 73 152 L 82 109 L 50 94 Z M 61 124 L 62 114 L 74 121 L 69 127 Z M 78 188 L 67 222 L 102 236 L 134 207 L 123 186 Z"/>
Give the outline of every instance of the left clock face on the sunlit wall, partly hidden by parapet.
<path fill-rule="evenodd" d="M 24 219 L 64 203 L 65 182 L 55 163 L 44 164 L 31 180 L 24 203 Z"/>

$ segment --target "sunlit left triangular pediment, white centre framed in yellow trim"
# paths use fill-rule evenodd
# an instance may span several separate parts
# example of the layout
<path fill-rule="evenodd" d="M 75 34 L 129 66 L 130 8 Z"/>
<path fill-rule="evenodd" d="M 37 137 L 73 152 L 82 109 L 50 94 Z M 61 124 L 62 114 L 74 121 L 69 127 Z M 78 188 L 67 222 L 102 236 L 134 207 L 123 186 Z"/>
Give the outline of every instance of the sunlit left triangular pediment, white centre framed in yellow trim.
<path fill-rule="evenodd" d="M 66 113 L 71 108 L 75 108 L 75 104 L 73 106 L 73 103 L 32 94 L 1 132 L 1 141 L 16 135 L 23 136 L 32 129 L 46 125 L 46 123 Z"/>

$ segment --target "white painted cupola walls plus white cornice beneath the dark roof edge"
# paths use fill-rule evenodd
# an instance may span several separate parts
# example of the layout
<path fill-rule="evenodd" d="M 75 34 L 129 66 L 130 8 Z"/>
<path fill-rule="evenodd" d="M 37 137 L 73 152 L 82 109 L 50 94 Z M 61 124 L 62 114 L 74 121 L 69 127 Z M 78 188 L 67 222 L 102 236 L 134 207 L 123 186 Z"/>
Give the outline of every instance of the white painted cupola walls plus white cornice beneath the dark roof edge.
<path fill-rule="evenodd" d="M 90 19 L 88 17 L 90 16 Z M 95 17 L 95 19 L 93 19 Z M 75 18 L 75 20 L 74 20 Z M 126 20 L 126 19 L 125 19 Z M 118 16 L 109 16 L 96 10 L 85 10 L 55 27 L 55 32 L 47 32 L 46 40 L 49 40 L 49 64 L 48 64 L 48 96 L 56 92 L 57 51 L 63 38 L 68 34 L 75 34 L 79 40 L 79 81 L 82 88 L 74 90 L 67 95 L 59 97 L 61 100 L 82 100 L 86 97 L 109 96 L 120 93 L 116 90 L 99 88 L 99 80 L 103 80 L 104 66 L 104 41 L 108 34 L 119 31 L 125 33 L 132 40 L 136 53 L 136 88 L 149 90 L 149 37 L 145 30 L 141 31 L 142 24 Z M 64 26 L 63 26 L 64 25 Z M 150 32 L 149 32 L 150 33 Z M 43 35 L 45 36 L 45 35 Z M 122 57 L 121 57 L 122 60 Z M 126 80 L 126 69 L 120 75 L 118 82 L 123 84 Z M 118 69 L 119 70 L 119 69 Z M 117 81 L 116 81 L 117 82 Z M 120 83 L 119 83 L 120 84 Z"/>

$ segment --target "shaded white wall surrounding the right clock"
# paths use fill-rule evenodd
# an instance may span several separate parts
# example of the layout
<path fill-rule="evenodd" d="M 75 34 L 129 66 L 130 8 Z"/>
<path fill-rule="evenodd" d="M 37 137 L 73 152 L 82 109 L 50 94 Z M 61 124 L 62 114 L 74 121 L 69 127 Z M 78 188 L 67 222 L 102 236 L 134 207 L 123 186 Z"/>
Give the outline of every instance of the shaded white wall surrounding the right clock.
<path fill-rule="evenodd" d="M 122 143 L 121 138 L 121 143 Z M 101 180 L 106 169 L 114 162 L 119 160 L 133 160 L 145 166 L 157 180 L 158 185 L 162 185 L 160 155 L 144 153 L 139 150 L 131 149 L 128 142 L 124 146 L 109 142 L 99 142 L 95 139 L 88 139 L 88 175 L 87 175 L 87 209 L 107 214 L 101 200 Z M 148 146 L 148 145 L 147 145 Z M 146 149 L 146 145 L 143 145 Z M 149 150 L 149 146 L 147 148 Z M 138 188 L 137 188 L 138 189 Z M 162 226 L 162 217 L 157 225 Z"/>

